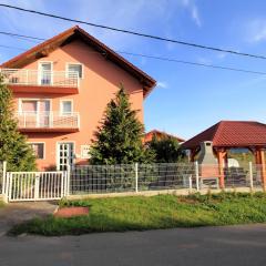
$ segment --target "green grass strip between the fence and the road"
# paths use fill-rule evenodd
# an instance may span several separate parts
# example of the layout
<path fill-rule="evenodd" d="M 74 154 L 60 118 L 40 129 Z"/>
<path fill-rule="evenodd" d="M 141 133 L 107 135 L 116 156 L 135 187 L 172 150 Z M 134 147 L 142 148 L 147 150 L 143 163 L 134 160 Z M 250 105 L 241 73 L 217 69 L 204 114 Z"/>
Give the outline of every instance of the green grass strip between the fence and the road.
<path fill-rule="evenodd" d="M 93 232 L 145 231 L 266 222 L 266 194 L 116 197 L 61 202 L 89 206 L 90 214 L 73 218 L 34 218 L 10 234 L 78 235 Z"/>

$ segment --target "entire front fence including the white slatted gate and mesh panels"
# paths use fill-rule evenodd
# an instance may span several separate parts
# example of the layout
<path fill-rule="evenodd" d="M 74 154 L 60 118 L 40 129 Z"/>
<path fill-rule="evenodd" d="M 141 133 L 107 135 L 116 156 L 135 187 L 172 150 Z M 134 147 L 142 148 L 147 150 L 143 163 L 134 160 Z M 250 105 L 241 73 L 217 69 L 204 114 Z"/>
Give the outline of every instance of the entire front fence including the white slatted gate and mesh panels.
<path fill-rule="evenodd" d="M 252 163 L 223 168 L 197 163 L 74 165 L 63 172 L 8 172 L 1 180 L 6 181 L 3 194 L 11 202 L 82 194 L 265 186 L 262 165 Z"/>

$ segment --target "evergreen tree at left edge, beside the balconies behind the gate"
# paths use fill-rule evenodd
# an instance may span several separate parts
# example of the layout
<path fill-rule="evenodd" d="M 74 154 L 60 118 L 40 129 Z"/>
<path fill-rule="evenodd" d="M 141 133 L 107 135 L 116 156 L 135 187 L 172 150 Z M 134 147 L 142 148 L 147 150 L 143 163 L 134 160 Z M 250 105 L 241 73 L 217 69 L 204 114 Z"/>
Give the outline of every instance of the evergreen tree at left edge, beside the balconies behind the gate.
<path fill-rule="evenodd" d="M 8 162 L 8 171 L 31 171 L 35 156 L 25 136 L 18 132 L 12 105 L 12 93 L 0 75 L 0 161 Z"/>

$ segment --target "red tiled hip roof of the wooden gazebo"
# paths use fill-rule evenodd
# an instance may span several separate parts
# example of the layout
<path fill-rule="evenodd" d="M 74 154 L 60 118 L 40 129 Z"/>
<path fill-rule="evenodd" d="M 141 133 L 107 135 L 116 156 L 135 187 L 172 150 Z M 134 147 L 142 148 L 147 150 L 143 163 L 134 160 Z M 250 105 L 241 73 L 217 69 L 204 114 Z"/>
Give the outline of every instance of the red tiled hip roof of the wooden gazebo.
<path fill-rule="evenodd" d="M 186 150 L 212 141 L 214 147 L 266 147 L 266 124 L 255 121 L 221 121 L 183 143 Z"/>

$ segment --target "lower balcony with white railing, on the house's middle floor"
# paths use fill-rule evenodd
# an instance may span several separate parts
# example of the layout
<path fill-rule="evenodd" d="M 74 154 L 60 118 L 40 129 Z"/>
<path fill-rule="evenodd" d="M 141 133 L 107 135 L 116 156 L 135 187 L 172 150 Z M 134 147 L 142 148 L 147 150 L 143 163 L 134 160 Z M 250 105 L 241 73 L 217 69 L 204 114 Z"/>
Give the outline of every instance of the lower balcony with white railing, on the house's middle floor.
<path fill-rule="evenodd" d="M 78 132 L 80 129 L 80 114 L 73 112 L 61 114 L 59 112 L 17 112 L 20 132 Z"/>

